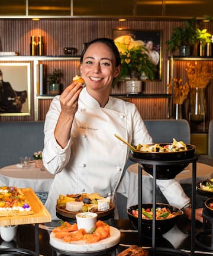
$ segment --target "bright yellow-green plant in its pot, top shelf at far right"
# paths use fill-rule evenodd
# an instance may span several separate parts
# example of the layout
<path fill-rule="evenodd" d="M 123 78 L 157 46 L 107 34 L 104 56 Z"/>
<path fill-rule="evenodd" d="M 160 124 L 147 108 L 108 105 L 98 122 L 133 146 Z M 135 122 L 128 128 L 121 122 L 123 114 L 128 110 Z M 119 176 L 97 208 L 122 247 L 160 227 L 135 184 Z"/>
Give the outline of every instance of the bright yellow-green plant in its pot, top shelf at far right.
<path fill-rule="evenodd" d="M 196 28 L 196 40 L 198 41 L 198 56 L 209 57 L 211 56 L 211 34 L 204 28 L 200 30 Z"/>

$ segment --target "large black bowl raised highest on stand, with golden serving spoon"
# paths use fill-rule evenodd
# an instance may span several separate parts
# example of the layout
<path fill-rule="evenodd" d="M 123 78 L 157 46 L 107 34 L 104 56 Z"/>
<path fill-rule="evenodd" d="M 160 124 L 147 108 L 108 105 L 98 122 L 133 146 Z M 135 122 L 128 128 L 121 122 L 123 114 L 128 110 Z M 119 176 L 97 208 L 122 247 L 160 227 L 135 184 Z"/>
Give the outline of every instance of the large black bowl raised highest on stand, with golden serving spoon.
<path fill-rule="evenodd" d="M 160 146 L 169 145 L 172 143 L 160 143 Z M 149 161 L 179 161 L 190 159 L 195 155 L 195 146 L 186 144 L 187 151 L 177 152 L 143 152 L 143 151 L 132 151 L 131 153 L 134 158 Z M 159 180 L 167 180 L 175 178 L 185 167 L 188 162 L 181 162 L 175 165 L 156 165 L 156 178 Z M 146 172 L 153 175 L 153 165 L 142 164 Z"/>

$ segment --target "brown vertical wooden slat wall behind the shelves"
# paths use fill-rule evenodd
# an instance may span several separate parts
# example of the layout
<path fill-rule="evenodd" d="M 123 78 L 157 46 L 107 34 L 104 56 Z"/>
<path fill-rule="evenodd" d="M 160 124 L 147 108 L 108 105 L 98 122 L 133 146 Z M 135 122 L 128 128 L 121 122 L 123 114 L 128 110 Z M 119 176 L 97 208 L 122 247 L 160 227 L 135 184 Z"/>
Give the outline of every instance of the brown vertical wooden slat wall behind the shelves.
<path fill-rule="evenodd" d="M 183 20 L 160 20 L 154 18 L 131 19 L 125 23 L 117 19 L 104 18 L 70 18 L 70 19 L 44 19 L 31 21 L 28 19 L 2 19 L 0 20 L 0 50 L 16 51 L 19 55 L 30 54 L 30 36 L 41 35 L 44 37 L 46 55 L 63 55 L 64 47 L 76 47 L 78 54 L 83 50 L 83 43 L 96 37 L 111 37 L 112 30 L 135 29 L 135 30 L 161 30 L 162 31 L 162 79 L 161 81 L 146 82 L 143 89 L 144 94 L 165 94 L 167 92 L 167 57 L 166 40 L 174 27 L 183 25 Z M 208 28 L 213 33 L 212 24 L 205 24 L 200 28 Z M 175 53 L 178 55 L 178 52 Z M 72 62 L 66 66 L 63 62 L 48 63 L 48 68 L 60 67 L 63 69 L 63 87 L 69 84 L 70 78 L 78 72 L 77 63 Z M 183 64 L 182 64 L 183 65 Z M 180 76 L 185 76 L 184 66 L 180 66 Z M 33 90 L 33 84 L 32 90 Z M 208 87 L 208 120 L 213 119 L 212 85 Z M 122 89 L 114 91 L 122 93 Z M 158 119 L 166 116 L 167 104 L 165 99 L 141 99 L 134 100 L 146 119 Z M 49 100 L 39 100 L 39 117 L 44 119 Z M 32 98 L 32 113 L 29 117 L 0 117 L 0 120 L 34 120 L 34 102 Z"/>

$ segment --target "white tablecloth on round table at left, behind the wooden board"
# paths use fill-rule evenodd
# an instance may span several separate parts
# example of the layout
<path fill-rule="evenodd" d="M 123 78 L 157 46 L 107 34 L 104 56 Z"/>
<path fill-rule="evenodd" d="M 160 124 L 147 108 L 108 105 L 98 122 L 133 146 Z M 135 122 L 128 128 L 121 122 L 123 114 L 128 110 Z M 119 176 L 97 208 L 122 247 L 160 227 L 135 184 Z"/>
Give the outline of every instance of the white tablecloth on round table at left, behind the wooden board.
<path fill-rule="evenodd" d="M 46 169 L 40 171 L 34 163 L 30 168 L 22 169 L 21 165 L 9 165 L 0 169 L 0 186 L 8 185 L 18 188 L 32 188 L 35 192 L 48 192 L 54 175 Z"/>

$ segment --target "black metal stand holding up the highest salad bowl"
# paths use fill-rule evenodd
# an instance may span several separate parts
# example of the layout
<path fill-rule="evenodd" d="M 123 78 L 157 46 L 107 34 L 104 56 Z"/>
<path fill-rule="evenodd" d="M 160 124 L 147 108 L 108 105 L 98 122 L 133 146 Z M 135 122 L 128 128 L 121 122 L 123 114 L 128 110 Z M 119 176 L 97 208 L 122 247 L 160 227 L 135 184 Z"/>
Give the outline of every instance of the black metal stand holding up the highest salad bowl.
<path fill-rule="evenodd" d="M 170 248 L 156 248 L 156 167 L 167 165 L 180 165 L 192 163 L 192 222 L 191 222 L 191 256 L 194 255 L 195 251 L 195 193 L 196 193 L 196 161 L 198 156 L 193 156 L 189 159 L 183 159 L 178 161 L 150 161 L 142 158 L 135 158 L 130 156 L 130 160 L 138 163 L 138 245 L 142 246 L 142 168 L 144 165 L 152 165 L 153 169 L 153 222 L 152 222 L 152 244 L 151 244 L 151 255 L 186 255 L 185 252 L 170 249 Z M 181 172 L 181 171 L 180 171 Z M 165 178 L 166 179 L 166 178 Z M 169 179 L 169 178 L 167 178 Z M 178 195 L 177 195 L 178 196 Z"/>

